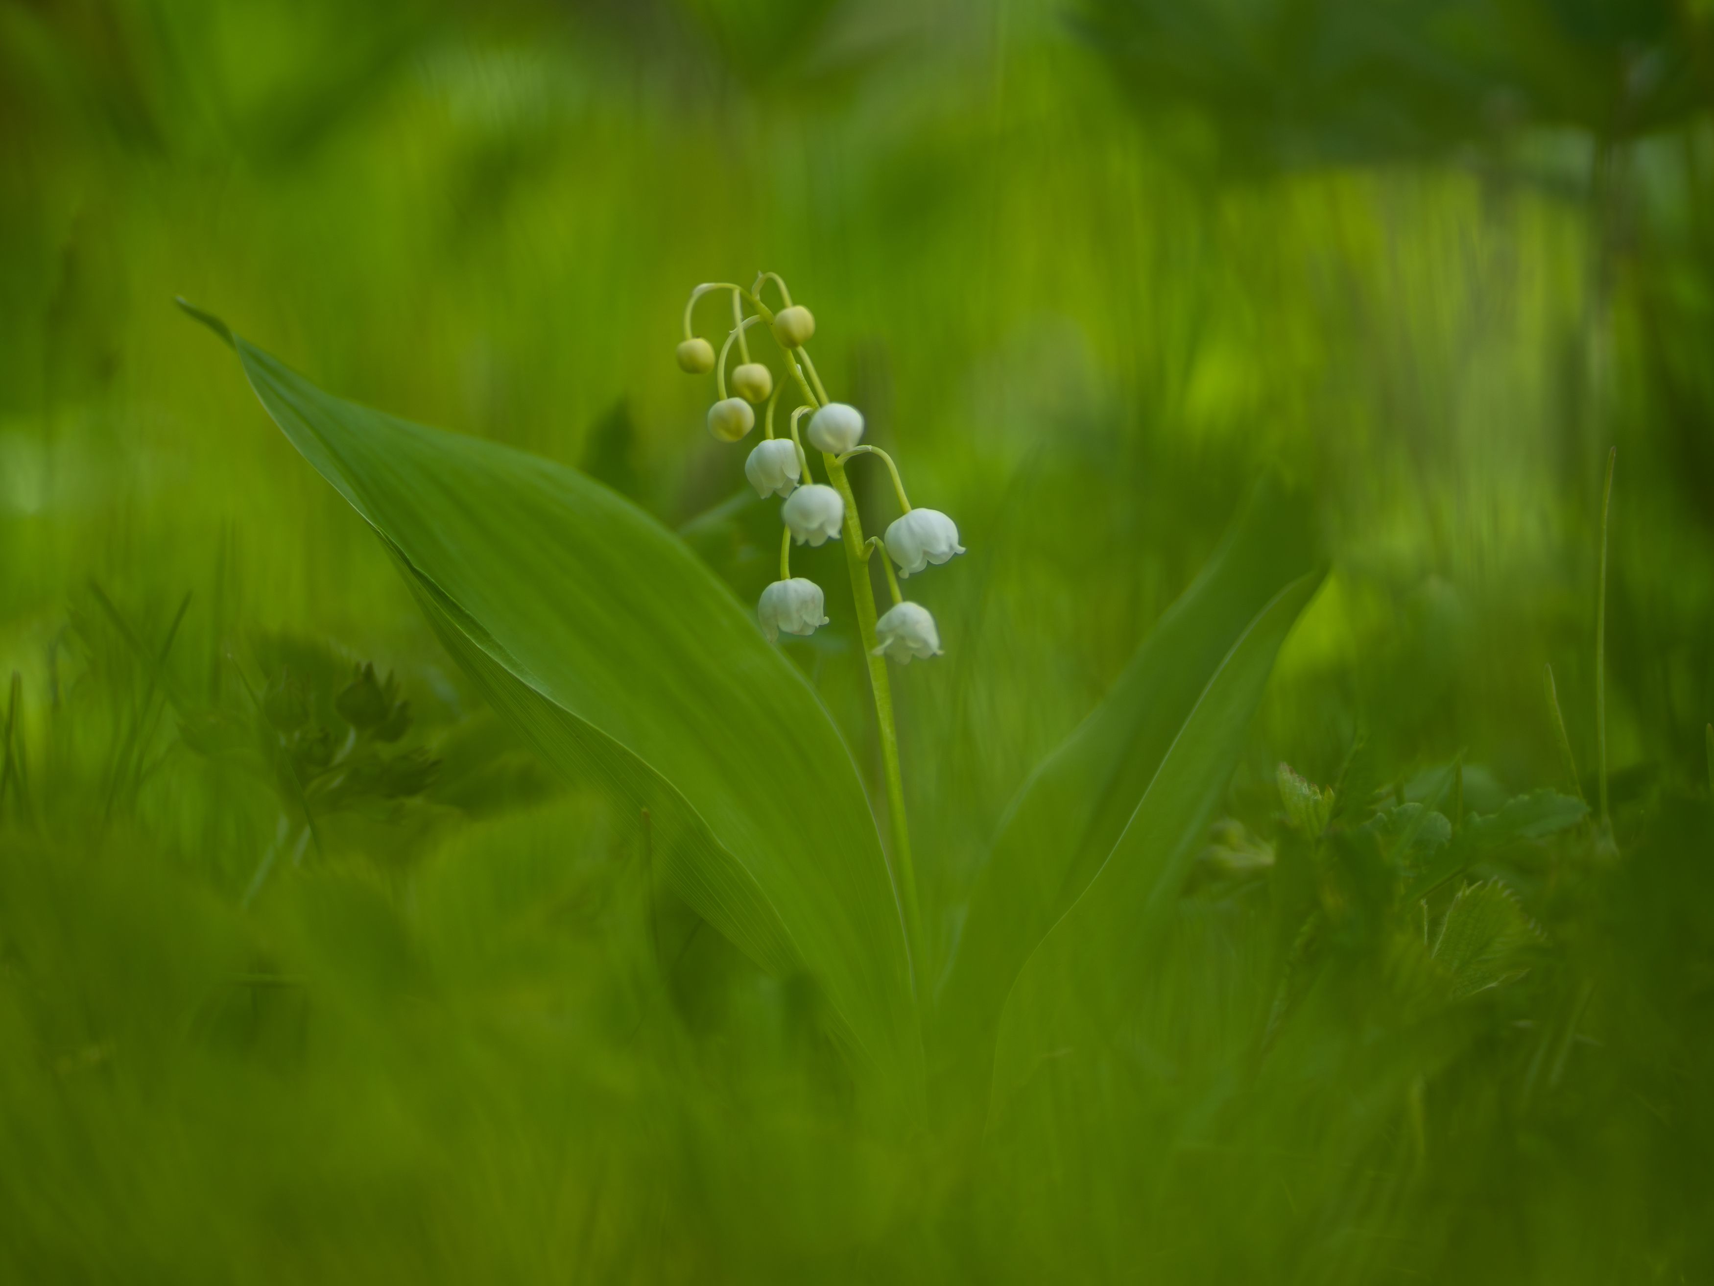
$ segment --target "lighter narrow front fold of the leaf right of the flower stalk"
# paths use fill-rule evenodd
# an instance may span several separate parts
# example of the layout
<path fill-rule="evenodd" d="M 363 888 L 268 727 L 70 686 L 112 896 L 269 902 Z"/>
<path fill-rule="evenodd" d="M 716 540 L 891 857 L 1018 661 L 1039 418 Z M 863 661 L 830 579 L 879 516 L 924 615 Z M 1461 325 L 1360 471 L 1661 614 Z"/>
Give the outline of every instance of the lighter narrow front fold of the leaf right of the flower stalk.
<path fill-rule="evenodd" d="M 1075 1058 L 1111 1039 L 1147 986 L 1148 964 L 1207 842 L 1274 657 L 1320 583 L 1320 573 L 1292 581 L 1243 633 L 1107 861 L 1025 962 L 1001 1013 L 991 1115 L 1044 1060 Z"/>

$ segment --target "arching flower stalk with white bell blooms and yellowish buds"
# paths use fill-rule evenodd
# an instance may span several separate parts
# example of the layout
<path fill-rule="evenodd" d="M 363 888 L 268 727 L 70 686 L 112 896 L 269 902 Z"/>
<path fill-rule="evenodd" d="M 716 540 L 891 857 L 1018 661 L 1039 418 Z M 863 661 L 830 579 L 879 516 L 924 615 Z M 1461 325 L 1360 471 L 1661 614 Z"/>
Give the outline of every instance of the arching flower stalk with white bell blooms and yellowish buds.
<path fill-rule="evenodd" d="M 763 291 L 773 283 L 780 295 L 775 312 L 763 302 Z M 696 302 L 710 293 L 727 293 L 732 300 L 732 329 L 727 331 L 720 353 L 696 334 L 692 314 Z M 780 346 L 790 382 L 802 394 L 802 405 L 792 410 L 787 425 L 790 437 L 775 436 L 775 408 L 787 381 L 775 384 L 773 372 L 751 357 L 746 331 L 763 322 Z M 874 694 L 876 722 L 881 730 L 881 763 L 886 772 L 888 813 L 893 823 L 893 859 L 898 868 L 910 922 L 912 941 L 920 941 L 917 914 L 917 881 L 910 859 L 910 830 L 905 823 L 905 794 L 898 768 L 898 737 L 893 729 L 893 696 L 886 676 L 886 657 L 910 664 L 912 657 L 941 655 L 941 636 L 934 617 L 922 604 L 907 602 L 898 590 L 900 576 L 922 571 L 931 562 L 941 564 L 955 554 L 963 554 L 958 544 L 958 526 L 938 509 L 912 508 L 905 496 L 905 482 L 893 458 L 878 446 L 862 442 L 862 412 L 843 401 L 828 398 L 816 374 L 806 345 L 816 333 L 816 319 L 802 303 L 792 303 L 792 291 L 778 273 L 761 273 L 754 285 L 708 281 L 691 291 L 684 305 L 684 341 L 679 345 L 679 367 L 692 376 L 715 372 L 715 405 L 708 408 L 708 432 L 722 442 L 739 442 L 756 427 L 754 406 L 763 412 L 763 441 L 744 461 L 744 477 L 761 497 L 780 496 L 780 580 L 761 593 L 756 617 L 770 641 L 787 634 L 812 634 L 824 626 L 824 595 L 821 586 L 802 576 L 792 576 L 792 542 L 821 545 L 835 537 L 845 540 L 845 566 L 850 573 L 852 597 L 857 609 L 857 631 L 869 658 L 869 688 Z M 739 365 L 727 376 L 727 362 L 737 345 Z M 799 422 L 809 417 L 804 434 Z M 821 453 L 821 466 L 828 482 L 819 484 L 804 449 L 804 436 Z M 884 537 L 867 537 L 857 514 L 845 466 L 860 454 L 879 456 L 893 478 L 900 516 L 886 528 Z M 876 614 L 874 590 L 869 580 L 869 557 L 876 547 L 884 549 L 881 566 L 891 590 L 891 607 Z M 893 573 L 898 564 L 898 574 Z"/>

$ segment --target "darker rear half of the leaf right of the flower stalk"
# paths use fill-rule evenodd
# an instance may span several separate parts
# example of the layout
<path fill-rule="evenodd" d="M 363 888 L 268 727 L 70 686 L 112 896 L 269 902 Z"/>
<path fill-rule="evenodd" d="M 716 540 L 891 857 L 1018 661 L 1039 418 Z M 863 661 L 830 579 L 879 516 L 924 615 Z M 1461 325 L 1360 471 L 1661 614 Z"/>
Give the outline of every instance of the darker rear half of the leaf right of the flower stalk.
<path fill-rule="evenodd" d="M 1208 677 L 1280 586 L 1313 566 L 1304 499 L 1263 482 L 1112 691 L 1025 782 L 972 890 L 939 996 L 939 1072 L 953 1106 L 980 1101 L 1018 969 L 1112 850 Z"/>

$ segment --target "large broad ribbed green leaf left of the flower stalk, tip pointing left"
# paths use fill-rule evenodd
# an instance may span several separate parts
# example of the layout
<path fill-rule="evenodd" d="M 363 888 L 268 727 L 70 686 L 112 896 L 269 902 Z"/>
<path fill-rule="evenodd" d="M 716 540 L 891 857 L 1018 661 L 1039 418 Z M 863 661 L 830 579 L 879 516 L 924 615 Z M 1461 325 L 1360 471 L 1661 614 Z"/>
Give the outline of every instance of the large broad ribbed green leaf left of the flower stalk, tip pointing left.
<path fill-rule="evenodd" d="M 576 470 L 341 401 L 231 341 L 495 708 L 552 763 L 648 808 L 686 902 L 763 967 L 812 977 L 859 1067 L 917 1084 L 903 922 L 862 782 L 732 593 Z"/>

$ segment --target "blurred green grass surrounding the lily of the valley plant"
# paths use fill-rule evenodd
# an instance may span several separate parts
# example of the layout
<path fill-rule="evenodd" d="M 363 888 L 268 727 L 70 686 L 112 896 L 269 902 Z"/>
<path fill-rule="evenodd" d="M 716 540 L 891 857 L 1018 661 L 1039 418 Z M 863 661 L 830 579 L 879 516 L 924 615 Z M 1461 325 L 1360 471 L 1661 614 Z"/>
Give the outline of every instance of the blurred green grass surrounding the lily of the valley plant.
<path fill-rule="evenodd" d="M 1714 1272 L 1707 9 L 1519 3 L 1465 39 L 1397 5 L 1380 53 L 1354 7 L 1289 9 L 0 7 L 0 1276 Z M 720 509 L 740 456 L 670 350 L 692 283 L 756 267 L 970 547 L 922 581 L 948 655 L 895 672 L 936 960 L 1008 799 L 1258 473 L 1333 557 L 1229 792 L 1274 868 L 1193 886 L 1130 1055 L 979 1163 L 862 1128 L 811 1000 L 483 712 L 171 307 L 588 468 L 751 600 L 776 526 Z M 1481 813 L 1570 790 L 1551 664 L 1592 797 L 1611 442 L 1618 854 L 1479 869 L 1544 945 L 1455 1005 L 1424 981 L 1450 890 L 1366 904 L 1371 854 L 1299 850 L 1274 765 L 1330 784 L 1361 734 L 1380 787 L 1462 751 Z M 787 652 L 874 777 L 848 628 Z M 276 785 L 199 754 L 161 674 L 243 712 L 369 658 L 437 780 L 245 904 Z M 1294 965 L 1330 904 L 1359 910 Z"/>

